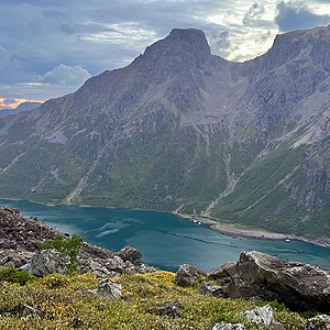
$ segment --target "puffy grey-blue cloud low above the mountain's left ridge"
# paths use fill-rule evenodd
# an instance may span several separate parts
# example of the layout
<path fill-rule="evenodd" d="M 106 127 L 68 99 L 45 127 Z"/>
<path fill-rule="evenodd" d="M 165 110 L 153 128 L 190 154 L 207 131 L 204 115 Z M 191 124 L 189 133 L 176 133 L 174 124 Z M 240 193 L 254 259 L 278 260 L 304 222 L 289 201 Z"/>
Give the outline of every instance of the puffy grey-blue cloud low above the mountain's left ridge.
<path fill-rule="evenodd" d="M 61 64 L 54 67 L 51 72 L 45 73 L 42 76 L 41 81 L 46 84 L 72 86 L 81 85 L 90 77 L 91 75 L 88 70 L 81 66 L 67 66 Z"/>

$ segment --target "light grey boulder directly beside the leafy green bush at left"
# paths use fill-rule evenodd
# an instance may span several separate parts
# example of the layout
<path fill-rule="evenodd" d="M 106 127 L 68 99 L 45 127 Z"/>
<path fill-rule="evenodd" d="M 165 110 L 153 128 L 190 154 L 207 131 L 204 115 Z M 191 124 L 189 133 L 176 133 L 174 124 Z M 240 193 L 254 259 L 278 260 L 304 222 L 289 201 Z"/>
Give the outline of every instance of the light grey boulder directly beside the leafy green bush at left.
<path fill-rule="evenodd" d="M 21 267 L 35 276 L 45 276 L 53 273 L 68 274 L 67 264 L 69 257 L 61 257 L 57 250 L 43 250 L 35 254 L 32 260 Z"/>

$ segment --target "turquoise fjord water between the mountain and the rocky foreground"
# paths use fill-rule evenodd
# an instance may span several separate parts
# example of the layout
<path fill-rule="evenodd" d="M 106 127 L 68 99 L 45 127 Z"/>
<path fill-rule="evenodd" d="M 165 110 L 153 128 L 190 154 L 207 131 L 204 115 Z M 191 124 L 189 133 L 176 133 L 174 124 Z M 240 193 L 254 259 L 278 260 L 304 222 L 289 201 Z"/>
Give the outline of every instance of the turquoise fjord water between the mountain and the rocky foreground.
<path fill-rule="evenodd" d="M 82 235 L 86 241 L 111 251 L 134 246 L 142 252 L 145 263 L 167 271 L 177 271 L 180 264 L 187 263 L 211 272 L 227 262 L 238 261 L 240 253 L 249 250 L 330 270 L 329 249 L 297 241 L 232 238 L 169 213 L 47 207 L 1 199 L 0 205 L 19 208 L 25 217 L 37 217 L 61 231 Z"/>

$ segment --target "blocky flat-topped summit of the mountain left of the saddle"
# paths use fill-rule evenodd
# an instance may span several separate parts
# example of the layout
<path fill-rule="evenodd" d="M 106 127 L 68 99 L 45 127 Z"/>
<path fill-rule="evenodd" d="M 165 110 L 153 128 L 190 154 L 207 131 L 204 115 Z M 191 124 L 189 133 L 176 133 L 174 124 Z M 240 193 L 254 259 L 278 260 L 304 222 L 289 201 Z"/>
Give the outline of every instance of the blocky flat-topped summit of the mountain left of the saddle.
<path fill-rule="evenodd" d="M 185 58 L 194 56 L 198 63 L 204 63 L 211 54 L 205 33 L 197 29 L 173 29 L 163 40 L 146 47 L 145 56 L 163 57 L 182 55 Z"/>

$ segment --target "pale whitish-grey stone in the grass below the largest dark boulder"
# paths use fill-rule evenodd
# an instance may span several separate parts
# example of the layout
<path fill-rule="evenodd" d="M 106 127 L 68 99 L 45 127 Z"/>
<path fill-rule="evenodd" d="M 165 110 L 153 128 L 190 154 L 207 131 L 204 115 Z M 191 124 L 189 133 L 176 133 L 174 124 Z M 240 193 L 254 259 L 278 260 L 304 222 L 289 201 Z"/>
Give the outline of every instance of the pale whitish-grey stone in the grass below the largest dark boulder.
<path fill-rule="evenodd" d="M 252 323 L 264 326 L 267 330 L 285 330 L 282 323 L 274 319 L 273 308 L 270 305 L 245 310 L 239 315 L 242 315 Z"/>

